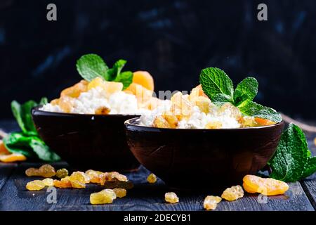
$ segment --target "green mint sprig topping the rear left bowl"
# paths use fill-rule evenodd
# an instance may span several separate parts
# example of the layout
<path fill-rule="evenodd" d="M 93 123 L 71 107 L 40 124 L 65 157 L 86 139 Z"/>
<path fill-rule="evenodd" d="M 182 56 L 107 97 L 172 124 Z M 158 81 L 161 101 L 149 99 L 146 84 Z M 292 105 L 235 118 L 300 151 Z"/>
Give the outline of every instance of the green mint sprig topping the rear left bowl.
<path fill-rule="evenodd" d="M 121 72 L 125 64 L 126 60 L 120 59 L 114 63 L 112 68 L 108 68 L 100 56 L 88 54 L 77 60 L 77 70 L 79 75 L 88 82 L 96 77 L 103 77 L 109 82 L 121 82 L 123 89 L 126 89 L 133 82 L 133 72 Z"/>

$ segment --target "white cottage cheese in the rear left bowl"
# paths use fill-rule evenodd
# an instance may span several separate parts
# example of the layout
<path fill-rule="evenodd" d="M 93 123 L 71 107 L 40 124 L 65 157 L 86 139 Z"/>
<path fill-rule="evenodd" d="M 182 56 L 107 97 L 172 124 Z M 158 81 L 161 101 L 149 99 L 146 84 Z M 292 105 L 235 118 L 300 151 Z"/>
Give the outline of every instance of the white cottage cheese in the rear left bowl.
<path fill-rule="evenodd" d="M 100 86 L 82 92 L 78 98 L 69 99 L 72 105 L 70 113 L 95 114 L 96 110 L 101 107 L 109 108 L 109 114 L 140 115 L 146 111 L 138 109 L 137 99 L 133 94 L 118 91 L 107 96 Z M 52 105 L 51 103 L 44 105 L 41 110 L 62 113 L 59 105 Z"/>

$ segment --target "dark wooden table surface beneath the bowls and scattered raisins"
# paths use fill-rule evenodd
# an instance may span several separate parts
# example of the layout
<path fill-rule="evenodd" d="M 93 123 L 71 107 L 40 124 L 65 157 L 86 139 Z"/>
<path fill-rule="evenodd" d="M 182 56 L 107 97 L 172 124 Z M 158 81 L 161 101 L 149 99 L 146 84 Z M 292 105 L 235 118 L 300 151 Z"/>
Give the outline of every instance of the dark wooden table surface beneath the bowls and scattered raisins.
<path fill-rule="evenodd" d="M 0 121 L 0 127 L 5 131 L 18 129 L 13 121 Z M 316 134 L 308 134 L 308 144 L 313 155 L 316 147 L 313 138 Z M 34 177 L 25 176 L 28 167 L 39 167 L 40 163 L 0 163 L 0 210 L 203 210 L 203 200 L 206 195 L 199 191 L 179 192 L 180 203 L 164 203 L 164 193 L 169 191 L 164 182 L 158 180 L 156 184 L 148 184 L 146 177 L 150 172 L 140 167 L 137 172 L 127 173 L 134 188 L 129 190 L 125 198 L 114 200 L 109 205 L 91 205 L 91 193 L 103 188 L 89 184 L 85 189 L 57 189 L 57 203 L 48 203 L 50 193 L 46 189 L 41 191 L 27 191 L 25 185 Z M 53 164 L 59 169 L 67 167 L 66 162 Z M 289 183 L 289 191 L 285 195 L 271 196 L 266 201 L 258 200 L 258 195 L 245 193 L 244 198 L 235 202 L 223 200 L 216 210 L 229 211 L 315 211 L 316 209 L 316 174 L 300 182 Z"/>

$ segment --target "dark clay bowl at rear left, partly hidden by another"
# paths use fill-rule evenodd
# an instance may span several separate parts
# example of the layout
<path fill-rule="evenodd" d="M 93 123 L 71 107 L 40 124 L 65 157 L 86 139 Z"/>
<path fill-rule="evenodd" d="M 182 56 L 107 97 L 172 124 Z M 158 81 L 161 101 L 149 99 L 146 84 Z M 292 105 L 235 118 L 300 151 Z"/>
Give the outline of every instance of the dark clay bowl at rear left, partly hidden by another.
<path fill-rule="evenodd" d="M 124 171 L 139 162 L 126 143 L 124 121 L 135 115 L 81 115 L 32 110 L 41 139 L 76 169 Z"/>

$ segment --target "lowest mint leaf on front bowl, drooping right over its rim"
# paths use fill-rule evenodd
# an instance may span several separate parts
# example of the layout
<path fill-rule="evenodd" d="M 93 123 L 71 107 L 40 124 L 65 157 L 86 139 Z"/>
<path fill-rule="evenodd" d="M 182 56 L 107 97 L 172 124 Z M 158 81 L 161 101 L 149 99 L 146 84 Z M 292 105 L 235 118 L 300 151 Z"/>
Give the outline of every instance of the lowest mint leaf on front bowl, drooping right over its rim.
<path fill-rule="evenodd" d="M 263 119 L 271 120 L 272 122 L 281 122 L 282 117 L 277 111 L 272 108 L 265 107 L 253 101 L 244 101 L 240 105 L 237 105 L 240 112 L 244 115 L 259 117 Z"/>

